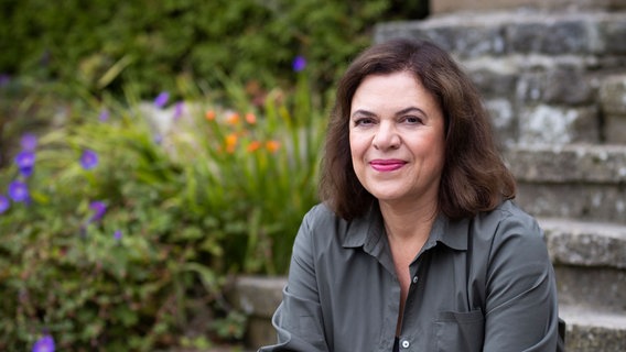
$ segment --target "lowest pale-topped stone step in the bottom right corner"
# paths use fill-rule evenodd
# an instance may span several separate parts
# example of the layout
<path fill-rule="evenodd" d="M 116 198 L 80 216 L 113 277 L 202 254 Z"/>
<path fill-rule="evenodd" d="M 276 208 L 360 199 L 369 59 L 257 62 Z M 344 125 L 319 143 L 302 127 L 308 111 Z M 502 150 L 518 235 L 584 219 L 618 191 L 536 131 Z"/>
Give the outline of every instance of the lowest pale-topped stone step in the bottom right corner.
<path fill-rule="evenodd" d="M 626 351 L 626 315 L 579 306 L 559 306 L 565 320 L 568 352 Z"/>

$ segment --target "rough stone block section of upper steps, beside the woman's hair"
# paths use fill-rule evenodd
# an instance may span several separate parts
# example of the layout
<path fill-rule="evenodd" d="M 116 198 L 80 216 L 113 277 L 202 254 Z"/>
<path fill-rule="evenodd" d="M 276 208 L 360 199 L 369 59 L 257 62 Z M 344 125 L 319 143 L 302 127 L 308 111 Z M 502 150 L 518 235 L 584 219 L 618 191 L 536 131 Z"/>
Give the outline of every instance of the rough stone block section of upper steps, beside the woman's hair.
<path fill-rule="evenodd" d="M 624 12 L 516 10 L 380 24 L 430 38 L 481 89 L 505 145 L 626 143 Z"/>

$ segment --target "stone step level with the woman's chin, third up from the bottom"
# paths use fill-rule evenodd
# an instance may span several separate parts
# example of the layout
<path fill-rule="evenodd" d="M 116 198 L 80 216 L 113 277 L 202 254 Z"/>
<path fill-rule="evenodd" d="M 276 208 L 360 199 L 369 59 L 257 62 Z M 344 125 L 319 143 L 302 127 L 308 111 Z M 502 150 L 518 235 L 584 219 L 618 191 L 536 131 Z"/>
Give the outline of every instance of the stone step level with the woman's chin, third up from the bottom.
<path fill-rule="evenodd" d="M 516 145 L 504 157 L 531 215 L 626 223 L 626 145 Z"/>

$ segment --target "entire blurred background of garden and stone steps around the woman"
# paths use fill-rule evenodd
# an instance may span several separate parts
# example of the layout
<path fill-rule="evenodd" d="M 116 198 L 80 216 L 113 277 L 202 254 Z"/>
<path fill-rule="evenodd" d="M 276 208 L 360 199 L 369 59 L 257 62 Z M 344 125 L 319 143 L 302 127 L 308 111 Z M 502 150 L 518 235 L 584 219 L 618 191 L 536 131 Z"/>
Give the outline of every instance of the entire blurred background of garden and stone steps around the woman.
<path fill-rule="evenodd" d="M 333 88 L 391 37 L 481 90 L 573 352 L 626 351 L 626 0 L 0 0 L 0 350 L 271 343 Z"/>

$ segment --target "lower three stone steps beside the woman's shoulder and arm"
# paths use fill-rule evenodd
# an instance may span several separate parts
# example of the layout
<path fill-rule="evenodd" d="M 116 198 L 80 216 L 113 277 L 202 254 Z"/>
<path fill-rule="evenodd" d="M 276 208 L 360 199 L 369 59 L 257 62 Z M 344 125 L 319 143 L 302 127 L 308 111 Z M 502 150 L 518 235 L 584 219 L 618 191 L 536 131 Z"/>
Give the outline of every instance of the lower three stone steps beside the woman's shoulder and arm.
<path fill-rule="evenodd" d="M 518 202 L 546 232 L 568 351 L 626 351 L 626 146 L 515 147 L 507 157 Z"/>

